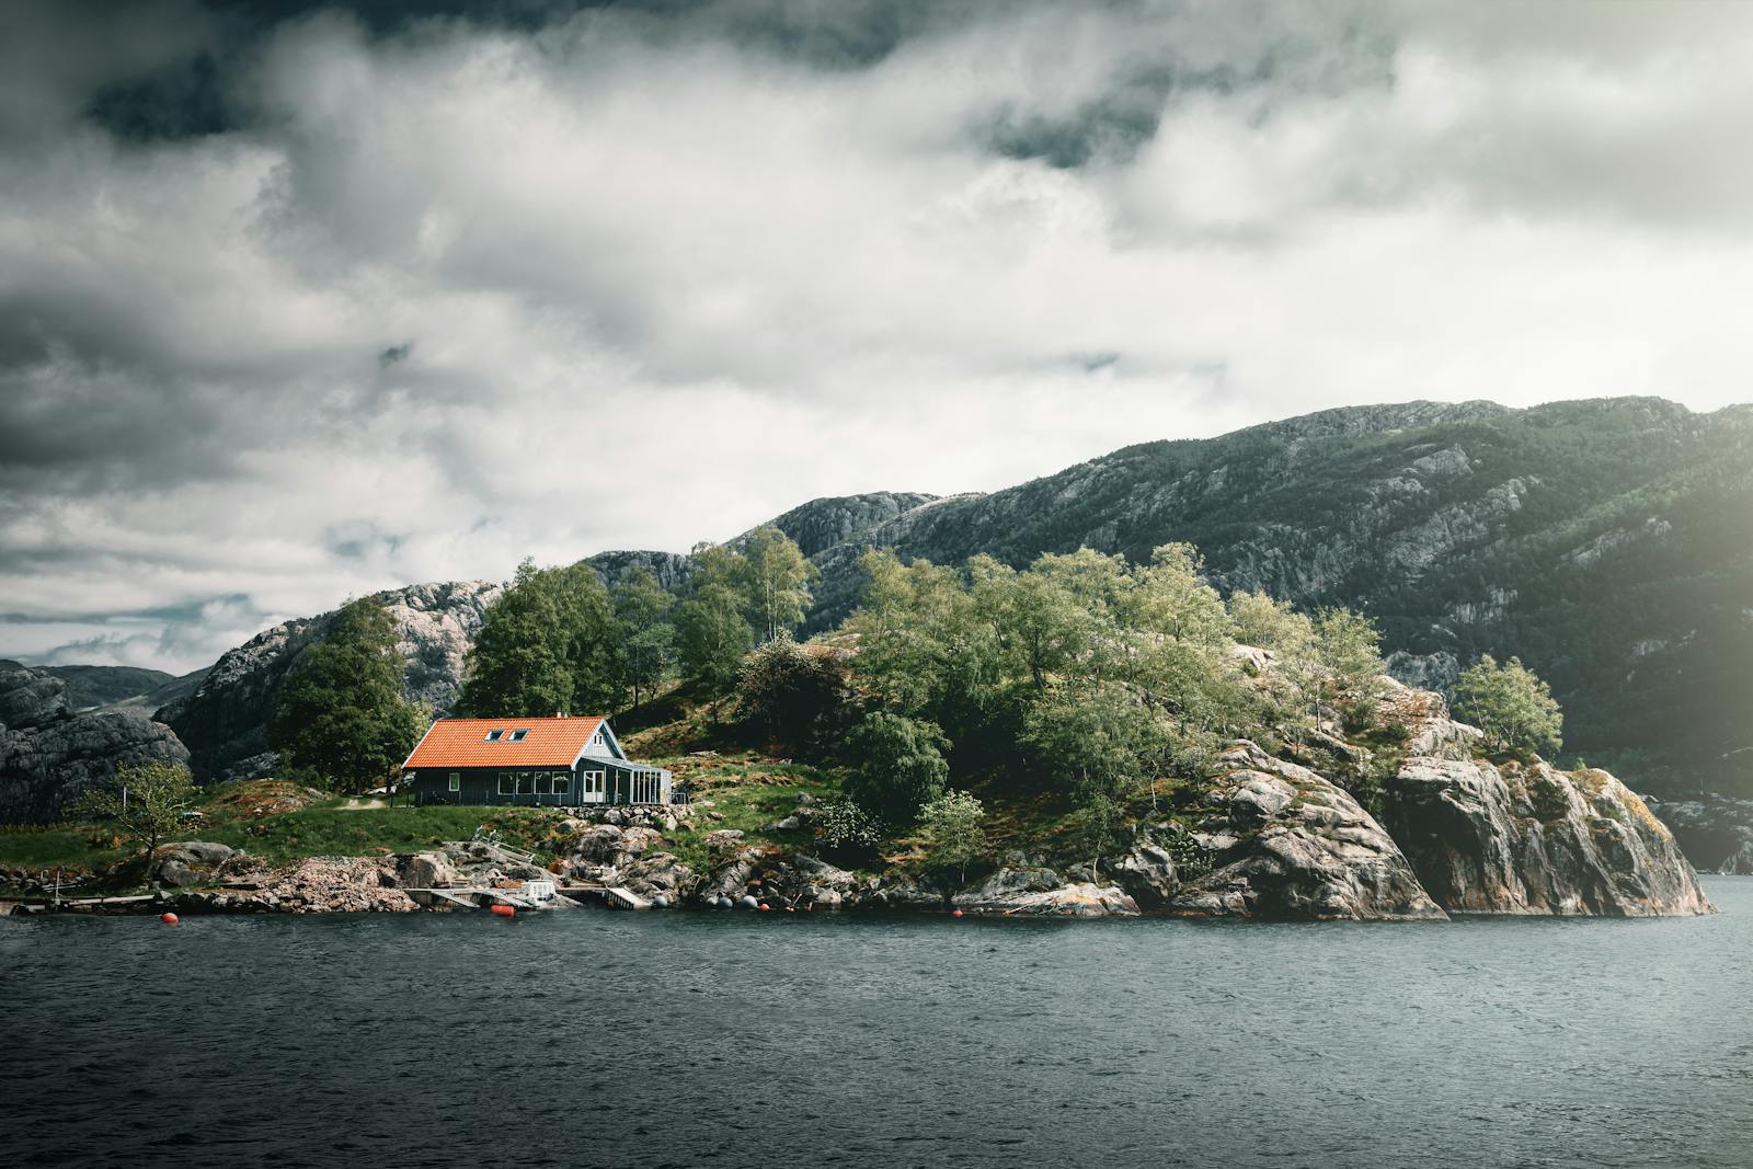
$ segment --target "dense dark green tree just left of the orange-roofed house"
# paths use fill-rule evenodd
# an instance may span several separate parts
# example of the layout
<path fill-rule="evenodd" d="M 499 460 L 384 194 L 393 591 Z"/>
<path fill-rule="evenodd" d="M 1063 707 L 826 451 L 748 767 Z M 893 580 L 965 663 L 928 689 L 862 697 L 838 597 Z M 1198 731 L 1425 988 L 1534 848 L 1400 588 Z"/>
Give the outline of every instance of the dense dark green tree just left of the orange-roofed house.
<path fill-rule="evenodd" d="M 391 778 L 422 729 L 401 698 L 396 622 L 382 605 L 351 601 L 280 687 L 268 747 L 345 790 Z"/>

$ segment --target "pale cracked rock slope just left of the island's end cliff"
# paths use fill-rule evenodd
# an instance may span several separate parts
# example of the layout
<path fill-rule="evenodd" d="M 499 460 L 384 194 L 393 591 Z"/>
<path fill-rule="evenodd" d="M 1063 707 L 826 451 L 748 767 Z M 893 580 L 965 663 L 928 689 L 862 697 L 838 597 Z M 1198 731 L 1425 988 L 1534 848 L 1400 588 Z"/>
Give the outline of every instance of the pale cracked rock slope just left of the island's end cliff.
<path fill-rule="evenodd" d="M 1169 913 L 1267 918 L 1441 920 L 1388 832 L 1341 787 L 1241 741 L 1192 810 L 1204 850 L 1176 873 L 1173 854 L 1146 847 L 1120 876 Z"/>

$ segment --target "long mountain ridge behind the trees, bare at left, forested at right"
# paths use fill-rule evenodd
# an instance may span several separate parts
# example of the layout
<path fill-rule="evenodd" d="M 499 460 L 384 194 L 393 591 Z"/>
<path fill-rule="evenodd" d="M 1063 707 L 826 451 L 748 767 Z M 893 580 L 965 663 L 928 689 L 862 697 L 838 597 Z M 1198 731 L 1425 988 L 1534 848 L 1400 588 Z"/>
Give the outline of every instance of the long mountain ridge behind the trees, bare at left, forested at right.
<path fill-rule="evenodd" d="M 1183 540 L 1224 589 L 1367 610 L 1402 680 L 1446 687 L 1478 654 L 1520 654 L 1565 705 L 1567 752 L 1634 783 L 1753 790 L 1753 750 L 1730 755 L 1753 743 L 1753 407 L 1325 410 L 1127 447 L 992 494 L 813 499 L 773 522 L 822 571 L 812 631 L 854 608 L 869 547 L 1024 564 L 1080 545 L 1141 559 Z M 692 568 L 678 552 L 589 563 L 610 584 L 649 564 L 671 589 Z M 442 710 L 493 587 L 384 596 L 405 619 L 408 692 Z M 203 773 L 252 766 L 279 678 L 326 619 L 231 650 L 160 712 Z"/>

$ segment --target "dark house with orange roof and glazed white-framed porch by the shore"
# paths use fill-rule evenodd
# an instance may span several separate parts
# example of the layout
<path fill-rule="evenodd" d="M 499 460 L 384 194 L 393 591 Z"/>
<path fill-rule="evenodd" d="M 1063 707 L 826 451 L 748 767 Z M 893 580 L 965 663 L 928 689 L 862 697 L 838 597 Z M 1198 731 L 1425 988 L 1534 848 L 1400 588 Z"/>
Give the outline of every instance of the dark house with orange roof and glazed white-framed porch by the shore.
<path fill-rule="evenodd" d="M 601 715 L 438 719 L 401 769 L 417 804 L 666 804 L 673 780 Z"/>

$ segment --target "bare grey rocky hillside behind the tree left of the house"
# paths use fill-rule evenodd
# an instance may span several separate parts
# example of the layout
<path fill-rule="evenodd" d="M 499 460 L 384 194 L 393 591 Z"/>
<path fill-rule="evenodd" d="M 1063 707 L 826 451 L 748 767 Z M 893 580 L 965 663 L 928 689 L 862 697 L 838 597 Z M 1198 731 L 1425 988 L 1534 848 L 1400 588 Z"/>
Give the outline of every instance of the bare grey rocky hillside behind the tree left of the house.
<path fill-rule="evenodd" d="M 403 696 L 444 713 L 463 678 L 463 654 L 486 622 L 501 585 L 486 580 L 422 584 L 379 592 L 396 622 L 403 657 Z M 266 775 L 266 726 L 280 685 L 300 655 L 328 634 L 337 613 L 300 617 L 266 629 L 228 650 L 200 689 L 170 703 L 156 719 L 189 747 L 198 778 Z"/>

